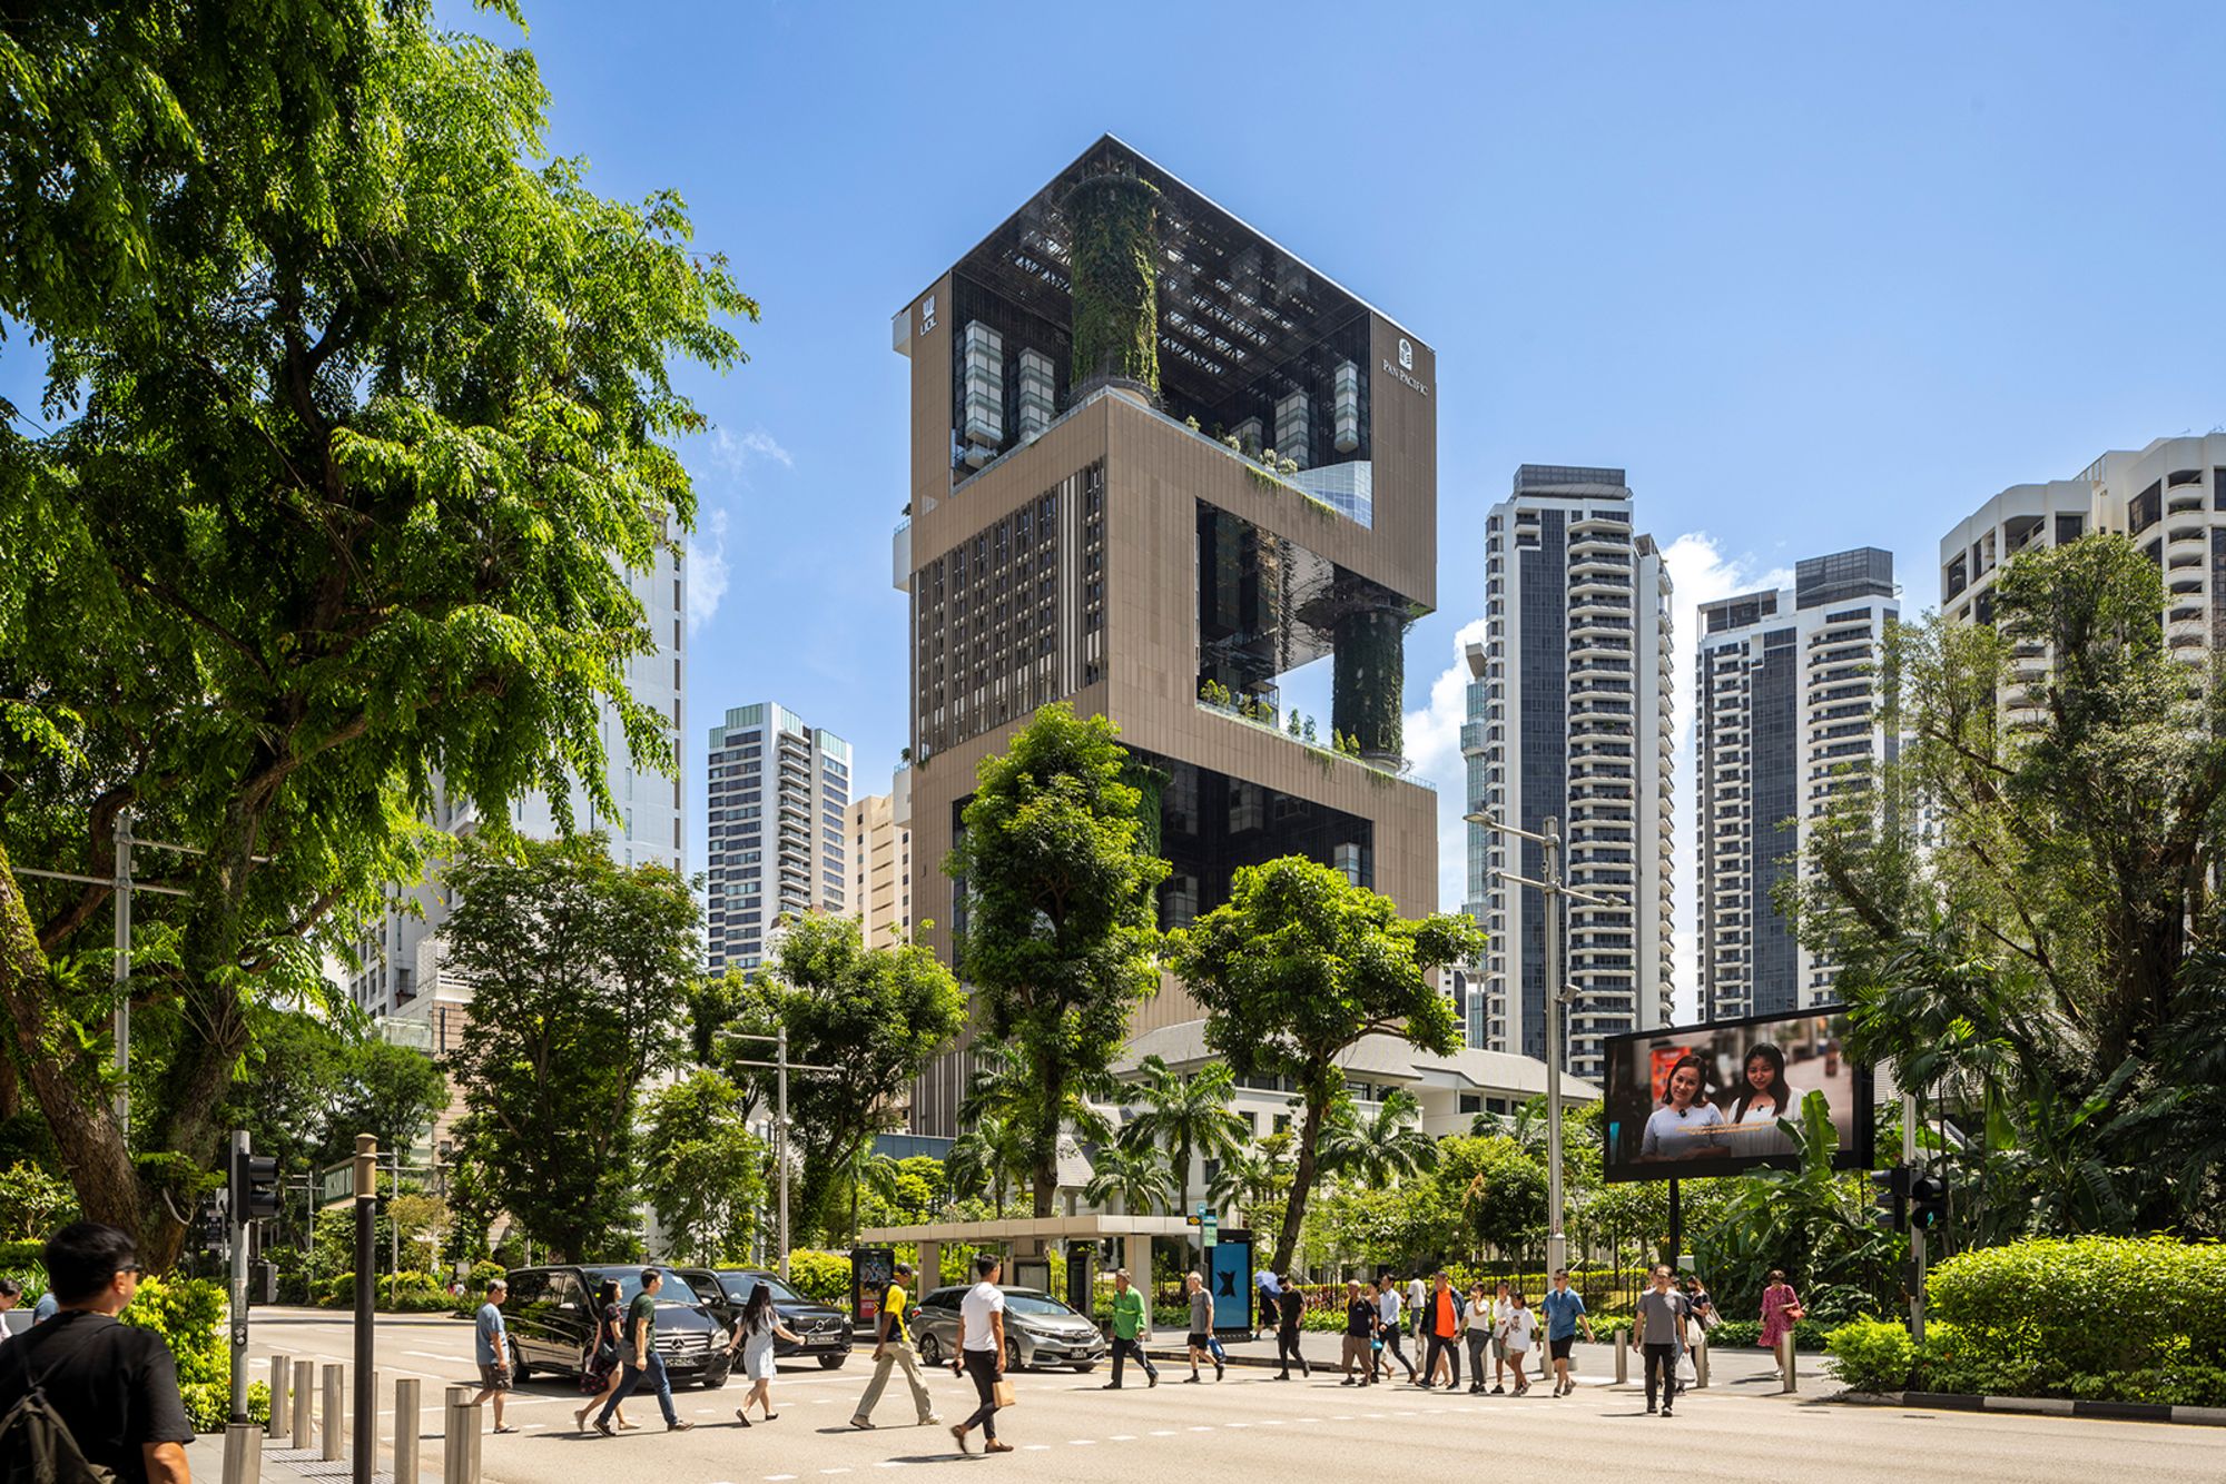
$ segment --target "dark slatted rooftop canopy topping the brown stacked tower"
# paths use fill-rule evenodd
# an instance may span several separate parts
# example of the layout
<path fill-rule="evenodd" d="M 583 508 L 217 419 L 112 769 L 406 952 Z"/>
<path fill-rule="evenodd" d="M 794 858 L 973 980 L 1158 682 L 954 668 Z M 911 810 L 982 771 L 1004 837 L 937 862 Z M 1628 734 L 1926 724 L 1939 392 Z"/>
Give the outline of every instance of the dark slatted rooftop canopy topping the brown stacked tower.
<path fill-rule="evenodd" d="M 1111 133 L 959 258 L 953 276 L 1066 325 L 1073 231 L 1064 202 L 1077 182 L 1104 174 L 1160 191 L 1160 378 L 1173 403 L 1213 409 L 1240 394 L 1280 392 L 1282 367 L 1347 338 L 1356 323 L 1365 334 L 1367 316 L 1380 314 Z"/>

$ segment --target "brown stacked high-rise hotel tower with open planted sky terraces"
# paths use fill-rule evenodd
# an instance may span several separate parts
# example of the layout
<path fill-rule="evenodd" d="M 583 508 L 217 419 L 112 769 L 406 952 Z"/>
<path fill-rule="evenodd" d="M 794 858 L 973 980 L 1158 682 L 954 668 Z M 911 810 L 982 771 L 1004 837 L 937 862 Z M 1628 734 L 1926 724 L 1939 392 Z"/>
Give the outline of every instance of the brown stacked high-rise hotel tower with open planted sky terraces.
<path fill-rule="evenodd" d="M 910 358 L 910 897 L 1035 708 L 1120 723 L 1160 783 L 1160 912 L 1307 854 L 1436 906 L 1436 801 L 1400 761 L 1402 636 L 1436 601 L 1436 360 L 1409 329 L 1106 136 L 893 325 Z M 1331 716 L 1282 683 L 1329 659 Z M 1311 725 L 1309 725 L 1311 721 Z M 1309 732 L 1311 739 L 1309 741 Z M 1333 739 L 1351 739 L 1347 750 Z M 1133 1030 L 1195 1019 L 1166 986 Z M 915 1132 L 955 1132 L 964 1059 Z"/>

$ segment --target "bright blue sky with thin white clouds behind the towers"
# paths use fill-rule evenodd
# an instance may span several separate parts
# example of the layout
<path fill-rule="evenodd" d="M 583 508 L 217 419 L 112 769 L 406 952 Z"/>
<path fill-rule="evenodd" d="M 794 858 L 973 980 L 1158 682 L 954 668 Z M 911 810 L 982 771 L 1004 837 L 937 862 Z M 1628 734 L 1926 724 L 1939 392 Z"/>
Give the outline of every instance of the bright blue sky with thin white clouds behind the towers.
<path fill-rule="evenodd" d="M 1438 349 L 1407 703 L 1447 814 L 1456 634 L 1518 463 L 1627 467 L 1681 616 L 1850 545 L 1892 547 L 1921 610 L 2003 485 L 2226 421 L 2219 7 L 528 13 L 556 147 L 605 191 L 677 187 L 766 309 L 697 387 L 692 714 L 779 699 L 866 783 L 904 745 L 888 318 L 1106 129 Z M 1683 1006 L 1690 797 L 1681 750 Z M 1456 906 L 1451 819 L 1440 845 Z"/>

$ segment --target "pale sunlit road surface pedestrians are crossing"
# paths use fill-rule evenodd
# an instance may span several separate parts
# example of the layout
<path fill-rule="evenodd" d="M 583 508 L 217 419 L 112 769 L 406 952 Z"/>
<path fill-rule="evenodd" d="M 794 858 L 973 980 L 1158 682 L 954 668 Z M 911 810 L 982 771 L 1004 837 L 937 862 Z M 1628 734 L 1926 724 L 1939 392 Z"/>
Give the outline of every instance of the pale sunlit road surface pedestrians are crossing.
<path fill-rule="evenodd" d="M 439 1480 L 439 1404 L 443 1386 L 472 1379 L 472 1333 L 456 1319 L 385 1319 L 378 1326 L 383 1406 L 392 1379 L 425 1379 L 425 1462 L 421 1480 Z M 345 1359 L 349 1330 L 329 1313 L 256 1310 L 249 1355 L 256 1377 L 267 1355 Z M 1247 1346 L 1244 1351 L 1251 1351 Z M 879 1471 L 1006 1471 L 1028 1480 L 1075 1484 L 1191 1484 L 1198 1475 L 1247 1480 L 1474 1477 L 1518 1468 L 1572 1480 L 1848 1480 L 1908 1484 L 1954 1480 L 1986 1484 L 2064 1480 L 2106 1468 L 2144 1484 L 2226 1480 L 2226 1428 L 2099 1422 L 2075 1417 L 1928 1413 L 1888 1406 L 1841 1406 L 1819 1397 L 1828 1379 L 1808 1382 L 1805 1397 L 1767 1395 L 1734 1379 L 1687 1393 L 1676 1417 L 1645 1415 L 1636 1388 L 1618 1388 L 1583 1364 L 1576 1395 L 1552 1399 L 1469 1397 L 1409 1386 L 1345 1388 L 1333 1377 L 1273 1382 L 1267 1371 L 1231 1368 L 1227 1382 L 1182 1384 L 1182 1366 L 1160 1368 L 1158 1388 L 1100 1391 L 1106 1371 L 1022 1373 L 1020 1404 L 1002 1413 L 999 1437 L 1015 1453 L 959 1457 L 946 1428 L 913 1426 L 904 1379 L 881 1399 L 884 1426 L 848 1426 L 870 1366 L 859 1351 L 844 1371 L 817 1364 L 781 1371 L 779 1417 L 743 1431 L 732 1424 L 743 1384 L 723 1391 L 688 1386 L 674 1393 L 681 1417 L 697 1424 L 668 1435 L 657 1404 L 628 1404 L 643 1431 L 623 1437 L 579 1435 L 570 1384 L 532 1382 L 514 1393 L 508 1419 L 521 1431 L 483 1440 L 487 1484 L 610 1484 L 654 1477 L 657 1484 L 784 1484 L 873 1475 Z M 1594 1353 L 1594 1357 L 1605 1351 Z M 1723 1375 L 1718 1371 L 1718 1375 Z M 973 1386 L 948 1371 L 930 1377 L 946 1422 L 973 1411 Z M 381 1437 L 392 1417 L 381 1417 Z M 274 1440 L 272 1446 L 276 1446 Z M 979 1433 L 973 1440 L 979 1448 Z M 200 1453 L 200 1451 L 196 1451 Z M 381 1460 L 385 1466 L 385 1460 Z M 196 1471 L 214 1477 L 214 1457 Z M 265 1462 L 265 1477 L 292 1480 Z"/>

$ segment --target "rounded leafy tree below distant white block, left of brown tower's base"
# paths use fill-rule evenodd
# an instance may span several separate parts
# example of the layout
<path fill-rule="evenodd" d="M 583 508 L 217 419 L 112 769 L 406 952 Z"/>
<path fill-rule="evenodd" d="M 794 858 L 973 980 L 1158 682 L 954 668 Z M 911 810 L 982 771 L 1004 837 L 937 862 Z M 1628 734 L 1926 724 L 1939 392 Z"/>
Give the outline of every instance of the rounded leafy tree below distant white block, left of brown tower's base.
<path fill-rule="evenodd" d="M 855 917 L 821 912 L 788 921 L 757 992 L 764 1015 L 746 1008 L 746 1023 L 770 1017 L 788 1028 L 792 1061 L 835 1068 L 788 1075 L 788 1124 L 801 1155 L 792 1215 L 833 1235 L 846 1177 L 888 1128 L 895 1099 L 966 1028 L 966 992 L 928 948 L 868 948 Z M 739 1061 L 766 1061 L 772 1048 L 737 1041 L 735 1050 Z M 770 1099 L 772 1077 L 748 1072 L 759 1099 Z"/>

